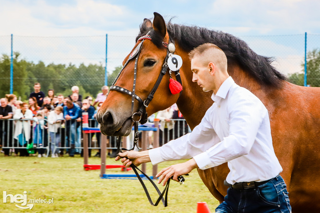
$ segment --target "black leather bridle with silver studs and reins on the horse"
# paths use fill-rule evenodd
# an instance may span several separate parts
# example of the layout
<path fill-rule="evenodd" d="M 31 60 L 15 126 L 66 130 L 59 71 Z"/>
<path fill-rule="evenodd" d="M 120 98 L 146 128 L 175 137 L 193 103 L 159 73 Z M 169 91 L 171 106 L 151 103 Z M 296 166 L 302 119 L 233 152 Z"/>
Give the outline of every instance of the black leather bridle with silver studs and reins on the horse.
<path fill-rule="evenodd" d="M 115 90 L 115 91 L 119 91 L 119 92 L 123 92 L 127 95 L 130 95 L 132 97 L 132 102 L 131 102 L 131 112 L 132 112 L 132 121 L 134 122 L 134 141 L 133 141 L 133 147 L 132 149 L 125 149 L 125 148 L 120 148 L 120 144 L 121 144 L 121 137 L 117 137 L 116 138 L 116 143 L 117 143 L 117 155 L 119 154 L 119 152 L 122 152 L 123 150 L 125 151 L 130 151 L 130 150 L 133 150 L 134 147 L 136 146 L 139 150 L 139 146 L 138 146 L 138 140 L 139 140 L 139 131 L 138 131 L 138 123 L 140 122 L 141 124 L 144 124 L 148 121 L 148 113 L 146 111 L 146 108 L 149 106 L 149 103 L 152 101 L 153 97 L 154 97 L 154 94 L 156 92 L 156 90 L 158 89 L 158 86 L 160 85 L 161 83 L 161 80 L 163 78 L 163 76 L 167 73 L 167 70 L 168 70 L 168 58 L 170 56 L 170 54 L 173 54 L 174 51 L 171 50 L 171 52 L 169 51 L 169 44 L 170 43 L 173 43 L 174 45 L 174 41 L 171 39 L 171 37 L 169 36 L 169 43 L 166 43 L 166 42 L 162 42 L 162 45 L 167 48 L 167 55 L 164 59 L 164 64 L 162 66 L 162 69 L 161 69 L 161 72 L 158 76 L 158 79 L 156 81 L 156 84 L 154 85 L 154 87 L 152 88 L 151 92 L 149 93 L 148 97 L 142 101 L 142 99 L 137 95 L 135 94 L 135 88 L 136 88 L 136 80 L 137 80 L 137 66 L 138 66 L 138 59 L 139 59 L 139 55 L 140 55 L 140 51 L 142 49 L 142 45 L 143 45 L 143 42 L 145 39 L 149 39 L 151 40 L 151 36 L 150 35 L 144 35 L 142 37 L 140 37 L 137 42 L 139 41 L 142 41 L 141 43 L 139 43 L 137 45 L 137 47 L 132 51 L 132 53 L 130 54 L 128 60 L 125 62 L 124 66 L 122 67 L 121 71 L 119 72 L 118 76 L 116 77 L 115 81 L 113 82 L 112 86 L 110 86 L 109 88 L 109 92 L 111 90 Z M 175 49 L 175 48 L 174 48 Z M 135 63 L 134 63 L 134 75 L 133 75 L 133 88 L 132 88 L 132 91 L 128 90 L 128 89 L 125 89 L 123 87 L 120 87 L 120 86 L 116 86 L 115 83 L 116 81 L 118 80 L 122 70 L 124 69 L 124 67 L 127 66 L 127 64 L 129 63 L 130 60 L 134 59 L 135 58 Z M 177 78 L 177 81 L 182 85 L 182 81 L 181 81 L 181 77 L 180 77 L 180 72 L 179 70 L 177 71 L 174 71 L 175 72 L 175 75 L 176 75 L 176 78 Z M 172 71 L 169 70 L 169 73 L 170 73 L 170 76 L 171 76 L 171 73 Z M 180 91 L 180 95 L 181 95 L 182 91 Z M 179 97 L 180 97 L 179 95 Z M 133 109 L 134 109 L 134 99 L 136 99 L 138 102 L 139 102 L 139 108 L 138 108 L 138 111 L 137 112 L 133 112 Z M 135 116 L 137 116 L 138 118 L 140 117 L 139 120 L 135 120 Z M 142 120 L 141 120 L 142 119 Z M 170 183 L 170 179 L 167 181 L 167 184 L 163 190 L 163 192 L 161 193 L 160 190 L 158 189 L 158 187 L 156 186 L 156 184 L 152 181 L 152 179 L 150 177 L 148 177 L 148 175 L 146 175 L 144 172 L 142 172 L 138 167 L 136 167 L 134 164 L 131 164 L 131 167 L 132 167 L 132 170 L 134 171 L 134 173 L 136 174 L 136 176 L 138 177 L 147 197 L 148 197 L 148 200 L 150 202 L 151 205 L 153 206 L 157 206 L 158 203 L 160 202 L 160 200 L 162 201 L 164 207 L 166 207 L 168 204 L 167 204 L 167 195 L 168 195 L 168 190 L 169 190 L 169 183 Z M 137 170 L 139 170 L 150 182 L 151 184 L 155 187 L 157 193 L 159 194 L 159 198 L 157 199 L 157 201 L 155 203 L 152 202 L 151 200 L 151 197 L 148 193 L 148 190 L 146 188 L 146 185 L 144 184 L 143 180 L 141 179 L 140 175 L 138 174 Z M 184 181 L 184 177 L 183 176 L 179 176 L 178 177 L 178 180 L 180 180 L 180 184 L 183 183 Z M 164 197 L 164 193 L 165 193 L 165 199 L 163 198 Z"/>

